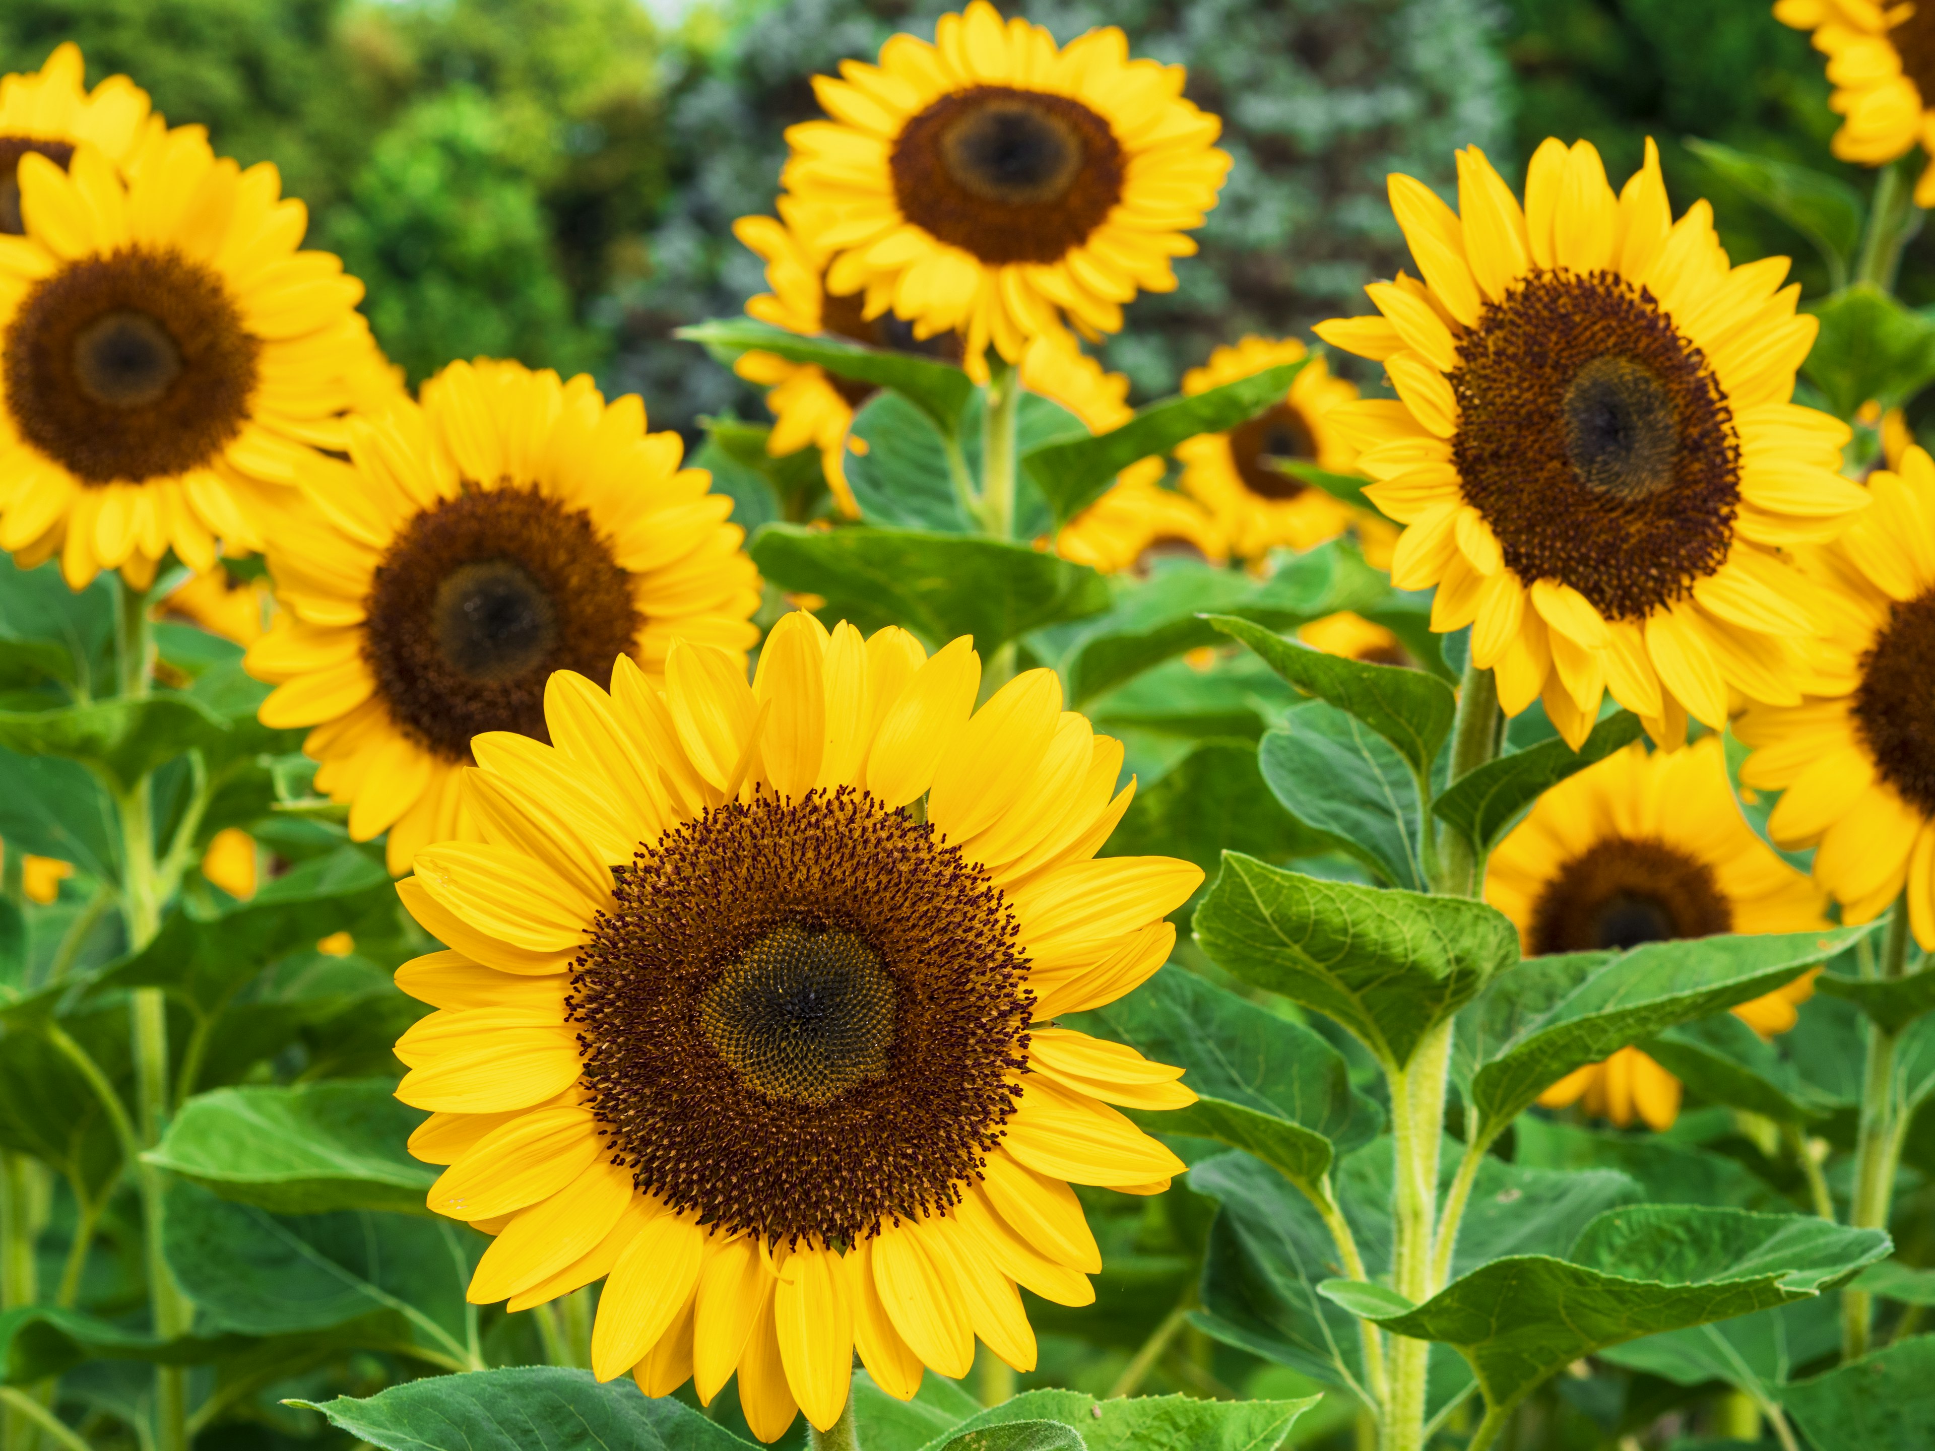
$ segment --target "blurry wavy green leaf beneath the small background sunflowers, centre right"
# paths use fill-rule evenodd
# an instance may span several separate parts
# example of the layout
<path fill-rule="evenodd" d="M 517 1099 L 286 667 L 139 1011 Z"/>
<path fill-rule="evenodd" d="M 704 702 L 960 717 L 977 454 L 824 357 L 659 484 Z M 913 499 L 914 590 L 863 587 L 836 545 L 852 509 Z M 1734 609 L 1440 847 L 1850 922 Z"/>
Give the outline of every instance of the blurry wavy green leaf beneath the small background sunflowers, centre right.
<path fill-rule="evenodd" d="M 1147 580 L 1116 575 L 1115 604 L 1082 627 L 1062 656 L 1078 706 L 1184 650 L 1221 644 L 1206 615 L 1238 615 L 1291 629 L 1339 609 L 1364 613 L 1387 604 L 1389 580 L 1343 540 L 1300 553 L 1258 584 L 1240 569 L 1159 561 Z"/>

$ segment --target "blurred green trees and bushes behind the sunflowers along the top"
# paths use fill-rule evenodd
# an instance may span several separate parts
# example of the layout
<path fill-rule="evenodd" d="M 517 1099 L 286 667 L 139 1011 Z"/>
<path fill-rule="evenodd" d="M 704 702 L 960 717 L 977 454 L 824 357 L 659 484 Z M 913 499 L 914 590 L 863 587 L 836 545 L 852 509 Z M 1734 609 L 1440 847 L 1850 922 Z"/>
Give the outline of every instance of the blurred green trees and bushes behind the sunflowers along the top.
<path fill-rule="evenodd" d="M 275 159 L 310 203 L 313 244 L 368 282 L 375 333 L 412 379 L 478 352 L 590 370 L 691 429 L 700 414 L 760 416 L 670 333 L 760 290 L 728 226 L 770 209 L 782 130 L 815 114 L 809 77 L 896 29 L 931 33 L 948 8 L 700 0 L 671 21 L 640 0 L 10 0 L 0 68 L 75 39 L 91 79 L 126 70 L 223 151 Z M 1136 52 L 1184 62 L 1236 157 L 1178 292 L 1140 302 L 1107 348 L 1138 397 L 1175 389 L 1240 333 L 1358 311 L 1358 286 L 1401 263 L 1385 172 L 1447 188 L 1455 145 L 1482 145 L 1511 174 L 1544 135 L 1587 135 L 1623 178 L 1651 133 L 1676 207 L 1712 197 L 1736 257 L 1790 253 L 1809 294 L 1827 277 L 1805 238 L 1683 137 L 1869 186 L 1829 159 L 1819 58 L 1761 0 L 1020 10 L 1060 39 L 1118 23 Z"/>

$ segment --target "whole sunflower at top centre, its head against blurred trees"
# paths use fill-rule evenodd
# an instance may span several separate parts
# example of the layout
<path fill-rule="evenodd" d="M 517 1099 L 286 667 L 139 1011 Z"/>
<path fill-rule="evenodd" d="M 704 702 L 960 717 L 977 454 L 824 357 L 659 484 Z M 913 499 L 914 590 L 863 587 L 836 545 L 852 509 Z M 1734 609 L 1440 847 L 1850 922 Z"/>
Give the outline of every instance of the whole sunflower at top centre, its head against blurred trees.
<path fill-rule="evenodd" d="M 840 74 L 815 77 L 832 120 L 786 132 L 780 176 L 813 209 L 828 290 L 917 339 L 958 333 L 977 379 L 991 344 L 1014 364 L 1064 319 L 1093 339 L 1138 290 L 1173 290 L 1229 170 L 1182 66 L 1130 60 L 1113 25 L 1057 48 L 975 0 L 935 44 L 896 35 Z"/>

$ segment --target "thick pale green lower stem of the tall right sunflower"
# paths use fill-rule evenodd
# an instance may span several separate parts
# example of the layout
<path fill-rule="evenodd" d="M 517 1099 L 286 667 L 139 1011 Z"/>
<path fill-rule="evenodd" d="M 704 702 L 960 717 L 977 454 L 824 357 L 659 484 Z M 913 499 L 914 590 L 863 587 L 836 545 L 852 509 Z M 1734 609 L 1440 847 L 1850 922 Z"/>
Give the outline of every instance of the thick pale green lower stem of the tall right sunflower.
<path fill-rule="evenodd" d="M 1451 1078 L 1451 1022 L 1434 1025 L 1411 1062 L 1387 1068 L 1391 1080 L 1393 1288 L 1413 1304 L 1432 1296 L 1432 1232 L 1438 1217 L 1438 1151 L 1444 1141 L 1445 1089 Z M 1407 1335 L 1391 1341 L 1391 1399 L 1384 1418 L 1384 1451 L 1422 1451 L 1424 1391 L 1430 1341 Z"/>

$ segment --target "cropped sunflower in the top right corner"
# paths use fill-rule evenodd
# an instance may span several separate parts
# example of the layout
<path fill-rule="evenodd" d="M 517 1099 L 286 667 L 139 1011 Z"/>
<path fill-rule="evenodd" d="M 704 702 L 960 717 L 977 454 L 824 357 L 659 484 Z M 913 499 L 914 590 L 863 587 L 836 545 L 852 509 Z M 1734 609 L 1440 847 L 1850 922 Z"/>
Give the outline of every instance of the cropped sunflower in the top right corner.
<path fill-rule="evenodd" d="M 1935 157 L 1935 10 L 1881 0 L 1780 0 L 1774 19 L 1813 31 L 1842 116 L 1834 155 L 1883 166 L 1916 143 Z M 1935 163 L 1916 182 L 1916 205 L 1935 207 Z"/>

